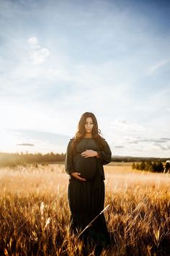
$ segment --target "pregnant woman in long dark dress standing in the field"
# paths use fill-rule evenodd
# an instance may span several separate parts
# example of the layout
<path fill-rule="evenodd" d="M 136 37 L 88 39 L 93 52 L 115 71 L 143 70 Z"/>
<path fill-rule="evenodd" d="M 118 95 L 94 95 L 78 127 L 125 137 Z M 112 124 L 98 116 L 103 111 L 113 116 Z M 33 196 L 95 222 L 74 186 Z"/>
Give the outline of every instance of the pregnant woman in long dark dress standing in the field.
<path fill-rule="evenodd" d="M 68 142 L 65 168 L 70 175 L 68 203 L 71 231 L 82 230 L 104 209 L 104 168 L 111 161 L 111 150 L 101 137 L 94 114 L 81 116 L 75 137 Z M 99 247 L 109 245 L 109 233 L 102 213 L 82 234 L 84 241 Z"/>

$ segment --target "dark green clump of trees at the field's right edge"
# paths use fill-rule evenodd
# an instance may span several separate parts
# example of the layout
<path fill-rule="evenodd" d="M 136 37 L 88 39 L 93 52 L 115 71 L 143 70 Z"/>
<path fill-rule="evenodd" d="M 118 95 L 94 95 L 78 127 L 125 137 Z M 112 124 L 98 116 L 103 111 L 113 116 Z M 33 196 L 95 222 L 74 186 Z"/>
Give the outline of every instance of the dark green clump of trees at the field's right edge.
<path fill-rule="evenodd" d="M 166 163 L 164 166 L 161 161 L 142 161 L 141 163 L 133 163 L 132 168 L 140 171 L 169 172 L 170 165 L 169 163 Z"/>

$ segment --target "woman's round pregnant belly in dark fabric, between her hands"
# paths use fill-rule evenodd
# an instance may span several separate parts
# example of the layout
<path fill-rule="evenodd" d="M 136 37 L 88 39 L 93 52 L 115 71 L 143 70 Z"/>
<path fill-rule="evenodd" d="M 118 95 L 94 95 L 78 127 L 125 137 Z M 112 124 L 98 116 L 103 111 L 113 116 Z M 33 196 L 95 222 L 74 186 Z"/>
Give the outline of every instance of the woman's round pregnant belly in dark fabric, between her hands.
<path fill-rule="evenodd" d="M 97 161 L 95 158 L 84 158 L 78 155 L 74 161 L 74 167 L 84 179 L 94 179 L 97 171 Z"/>

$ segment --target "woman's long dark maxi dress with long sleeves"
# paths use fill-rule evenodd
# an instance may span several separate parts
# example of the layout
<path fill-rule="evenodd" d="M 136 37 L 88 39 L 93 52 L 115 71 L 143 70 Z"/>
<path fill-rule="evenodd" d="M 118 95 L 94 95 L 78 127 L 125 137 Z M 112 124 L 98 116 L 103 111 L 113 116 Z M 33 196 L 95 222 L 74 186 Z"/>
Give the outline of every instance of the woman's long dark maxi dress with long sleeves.
<path fill-rule="evenodd" d="M 102 149 L 93 138 L 82 138 L 73 153 L 71 139 L 66 151 L 65 168 L 70 175 L 68 184 L 68 204 L 71 210 L 71 231 L 80 232 L 104 209 L 104 168 L 111 161 L 112 153 L 106 140 L 102 139 Z M 85 150 L 95 150 L 100 158 L 84 158 Z M 81 182 L 71 176 L 71 172 L 81 173 L 86 182 Z M 102 213 L 86 229 L 82 238 L 92 239 L 97 244 L 109 245 L 109 232 Z"/>

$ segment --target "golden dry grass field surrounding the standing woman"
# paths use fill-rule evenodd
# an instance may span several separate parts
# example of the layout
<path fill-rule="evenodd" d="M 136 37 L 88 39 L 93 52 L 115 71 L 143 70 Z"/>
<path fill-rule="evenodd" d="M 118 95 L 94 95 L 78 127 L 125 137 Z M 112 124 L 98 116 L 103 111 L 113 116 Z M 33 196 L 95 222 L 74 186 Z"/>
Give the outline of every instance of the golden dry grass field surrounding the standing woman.
<path fill-rule="evenodd" d="M 112 246 L 102 255 L 170 255 L 170 174 L 104 166 Z M 0 169 L 0 255 L 81 255 L 62 164 Z M 89 255 L 93 255 L 89 247 Z"/>

